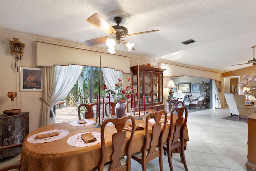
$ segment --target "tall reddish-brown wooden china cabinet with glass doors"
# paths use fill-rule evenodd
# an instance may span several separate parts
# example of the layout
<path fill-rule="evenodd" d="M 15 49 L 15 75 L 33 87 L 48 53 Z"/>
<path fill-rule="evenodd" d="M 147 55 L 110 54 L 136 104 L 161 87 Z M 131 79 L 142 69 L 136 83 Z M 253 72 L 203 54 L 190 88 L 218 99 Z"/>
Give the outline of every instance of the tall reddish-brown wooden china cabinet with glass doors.
<path fill-rule="evenodd" d="M 145 109 L 161 110 L 163 104 L 163 71 L 165 69 L 133 66 L 132 83 L 133 88 L 140 92 L 140 110 L 143 110 L 143 96 L 145 96 Z M 139 77 L 138 77 L 139 71 Z"/>

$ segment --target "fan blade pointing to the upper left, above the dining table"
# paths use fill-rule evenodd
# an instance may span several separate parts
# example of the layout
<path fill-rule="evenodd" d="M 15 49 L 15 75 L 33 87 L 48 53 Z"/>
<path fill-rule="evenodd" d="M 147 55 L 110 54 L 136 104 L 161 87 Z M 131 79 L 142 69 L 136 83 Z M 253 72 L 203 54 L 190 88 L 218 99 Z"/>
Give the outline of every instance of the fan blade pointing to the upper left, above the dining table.
<path fill-rule="evenodd" d="M 108 22 L 106 22 L 99 14 L 95 13 L 89 18 L 87 18 L 87 21 L 96 26 L 97 28 L 101 29 L 108 35 L 113 35 L 116 33 L 116 29 L 114 29 Z"/>

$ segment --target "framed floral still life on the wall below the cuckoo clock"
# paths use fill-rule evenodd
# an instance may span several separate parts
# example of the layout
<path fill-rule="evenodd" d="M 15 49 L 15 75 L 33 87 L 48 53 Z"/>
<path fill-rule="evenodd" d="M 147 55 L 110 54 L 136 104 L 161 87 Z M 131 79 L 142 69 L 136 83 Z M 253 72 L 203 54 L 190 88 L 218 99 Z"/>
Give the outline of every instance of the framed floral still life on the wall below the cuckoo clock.
<path fill-rule="evenodd" d="M 20 67 L 20 91 L 43 91 L 41 68 Z"/>

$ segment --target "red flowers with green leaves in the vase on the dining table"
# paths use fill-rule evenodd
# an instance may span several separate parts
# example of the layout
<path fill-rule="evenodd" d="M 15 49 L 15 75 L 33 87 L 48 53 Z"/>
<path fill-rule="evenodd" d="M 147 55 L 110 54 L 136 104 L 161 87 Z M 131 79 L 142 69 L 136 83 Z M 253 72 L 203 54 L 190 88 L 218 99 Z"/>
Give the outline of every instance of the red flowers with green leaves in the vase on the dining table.
<path fill-rule="evenodd" d="M 130 78 L 128 78 L 127 81 L 130 82 Z M 132 94 L 137 93 L 136 88 L 132 88 L 132 83 L 130 83 L 124 89 L 122 89 L 122 85 L 122 79 L 118 79 L 118 83 L 115 84 L 115 91 L 107 88 L 105 84 L 103 84 L 103 89 L 106 90 L 106 92 L 110 94 L 112 97 L 114 97 L 115 103 L 127 102 L 132 97 Z"/>

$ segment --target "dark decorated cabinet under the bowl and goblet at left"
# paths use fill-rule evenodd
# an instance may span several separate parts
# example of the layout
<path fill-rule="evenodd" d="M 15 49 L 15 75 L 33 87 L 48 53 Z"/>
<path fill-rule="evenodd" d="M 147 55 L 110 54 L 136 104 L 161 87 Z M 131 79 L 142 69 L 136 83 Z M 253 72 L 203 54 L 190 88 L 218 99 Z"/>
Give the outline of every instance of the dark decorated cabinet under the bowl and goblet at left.
<path fill-rule="evenodd" d="M 20 112 L 15 115 L 0 115 L 0 146 L 23 143 L 29 134 L 29 112 Z M 0 150 L 0 159 L 21 152 L 21 147 Z"/>

